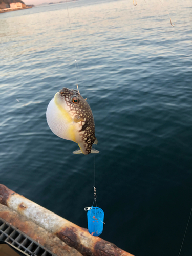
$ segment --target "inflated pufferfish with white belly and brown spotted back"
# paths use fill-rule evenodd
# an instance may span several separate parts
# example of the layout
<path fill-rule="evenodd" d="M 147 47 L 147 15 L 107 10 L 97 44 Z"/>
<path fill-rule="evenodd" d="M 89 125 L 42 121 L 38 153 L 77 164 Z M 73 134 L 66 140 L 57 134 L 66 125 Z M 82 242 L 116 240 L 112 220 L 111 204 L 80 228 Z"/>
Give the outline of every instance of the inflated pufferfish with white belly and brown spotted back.
<path fill-rule="evenodd" d="M 73 151 L 74 154 L 99 153 L 92 148 L 98 142 L 93 113 L 79 91 L 63 87 L 50 101 L 46 118 L 54 134 L 79 145 L 80 150 Z"/>

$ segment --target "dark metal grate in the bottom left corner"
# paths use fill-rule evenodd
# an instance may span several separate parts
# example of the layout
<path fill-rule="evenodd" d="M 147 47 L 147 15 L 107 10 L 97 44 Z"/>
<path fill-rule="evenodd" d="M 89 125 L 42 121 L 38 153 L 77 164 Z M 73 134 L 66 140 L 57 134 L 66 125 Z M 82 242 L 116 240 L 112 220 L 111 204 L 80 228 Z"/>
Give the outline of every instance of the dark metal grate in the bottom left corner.
<path fill-rule="evenodd" d="M 56 256 L 2 218 L 0 218 L 0 240 L 14 245 L 31 256 Z"/>

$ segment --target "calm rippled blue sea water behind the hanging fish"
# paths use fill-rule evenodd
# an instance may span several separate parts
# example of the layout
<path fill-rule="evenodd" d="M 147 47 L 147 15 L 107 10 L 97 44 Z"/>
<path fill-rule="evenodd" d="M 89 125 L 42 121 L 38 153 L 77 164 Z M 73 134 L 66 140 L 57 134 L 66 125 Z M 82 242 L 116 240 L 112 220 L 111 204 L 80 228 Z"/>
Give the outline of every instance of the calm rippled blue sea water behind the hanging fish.
<path fill-rule="evenodd" d="M 65 3 L 0 15 L 0 183 L 87 227 L 94 156 L 46 122 L 54 94 L 78 83 L 100 151 L 101 238 L 138 256 L 177 256 L 192 206 L 192 3 L 162 3 L 69 3 L 75 52 Z M 191 232 L 192 220 L 181 256 Z"/>

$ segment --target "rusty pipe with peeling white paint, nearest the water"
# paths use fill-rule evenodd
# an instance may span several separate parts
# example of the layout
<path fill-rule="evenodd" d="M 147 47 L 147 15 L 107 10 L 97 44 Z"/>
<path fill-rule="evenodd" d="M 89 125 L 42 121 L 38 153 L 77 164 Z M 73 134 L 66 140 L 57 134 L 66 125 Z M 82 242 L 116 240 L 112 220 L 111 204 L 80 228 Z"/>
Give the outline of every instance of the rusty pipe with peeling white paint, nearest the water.
<path fill-rule="evenodd" d="M 0 184 L 0 203 L 25 216 L 38 226 L 55 234 L 70 247 L 85 256 L 133 256 L 99 237 L 90 235 L 86 228 L 61 218 Z"/>

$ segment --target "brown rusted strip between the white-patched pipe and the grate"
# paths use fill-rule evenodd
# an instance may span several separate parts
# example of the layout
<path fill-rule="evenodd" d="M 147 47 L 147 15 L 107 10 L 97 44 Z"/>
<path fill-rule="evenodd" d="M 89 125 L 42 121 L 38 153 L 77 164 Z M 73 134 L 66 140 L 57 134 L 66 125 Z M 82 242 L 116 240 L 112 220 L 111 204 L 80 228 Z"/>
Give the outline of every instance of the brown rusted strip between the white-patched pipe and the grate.
<path fill-rule="evenodd" d="M 82 256 L 76 249 L 68 246 L 54 234 L 27 220 L 24 216 L 17 214 L 17 212 L 3 204 L 0 204 L 0 217 L 57 256 Z"/>

